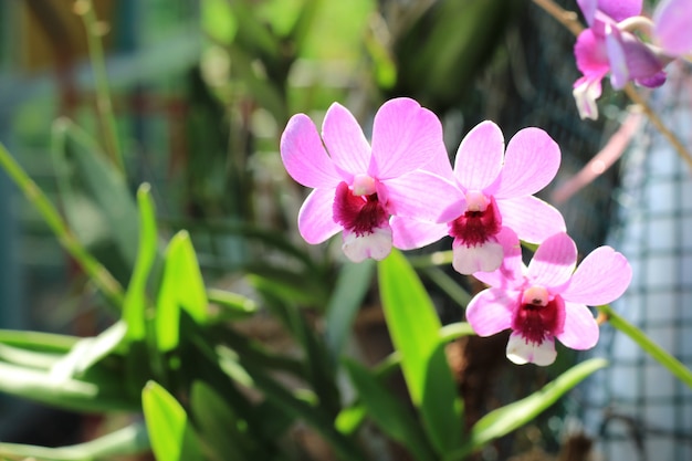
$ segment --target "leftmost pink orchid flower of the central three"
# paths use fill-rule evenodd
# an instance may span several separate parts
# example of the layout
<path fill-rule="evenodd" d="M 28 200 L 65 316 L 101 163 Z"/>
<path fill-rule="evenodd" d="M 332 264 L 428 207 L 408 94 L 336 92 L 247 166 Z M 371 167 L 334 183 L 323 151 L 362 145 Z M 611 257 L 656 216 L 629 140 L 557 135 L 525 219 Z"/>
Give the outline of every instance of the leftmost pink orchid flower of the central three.
<path fill-rule="evenodd" d="M 352 261 L 386 258 L 392 247 L 390 216 L 433 219 L 453 190 L 420 170 L 436 157 L 447 158 L 442 126 L 413 99 L 391 99 L 379 108 L 371 146 L 339 104 L 328 108 L 322 139 L 310 117 L 294 115 L 281 137 L 281 158 L 293 179 L 315 189 L 298 213 L 301 235 L 316 244 L 343 231 L 342 248 Z"/>

